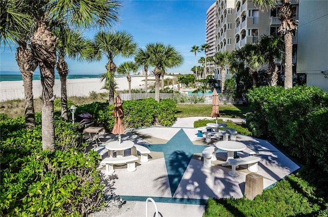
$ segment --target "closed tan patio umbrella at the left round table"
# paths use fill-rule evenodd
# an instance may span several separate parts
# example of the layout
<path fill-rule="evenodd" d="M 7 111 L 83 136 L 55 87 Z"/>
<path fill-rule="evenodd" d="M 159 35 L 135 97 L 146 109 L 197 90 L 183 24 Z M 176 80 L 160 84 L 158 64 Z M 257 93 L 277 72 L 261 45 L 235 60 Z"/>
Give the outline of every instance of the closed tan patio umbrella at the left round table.
<path fill-rule="evenodd" d="M 122 99 L 117 95 L 114 100 L 114 109 L 112 115 L 115 117 L 115 123 L 113 127 L 113 134 L 118 135 L 118 141 L 121 142 L 121 134 L 125 133 L 124 124 L 123 124 L 123 107 L 122 107 Z"/>

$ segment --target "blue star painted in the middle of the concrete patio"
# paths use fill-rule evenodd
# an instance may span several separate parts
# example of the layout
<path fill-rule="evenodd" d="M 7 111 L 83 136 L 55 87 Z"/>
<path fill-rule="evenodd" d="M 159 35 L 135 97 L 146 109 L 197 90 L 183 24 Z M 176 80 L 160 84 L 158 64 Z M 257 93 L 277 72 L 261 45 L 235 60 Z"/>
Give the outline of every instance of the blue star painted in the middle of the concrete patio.
<path fill-rule="evenodd" d="M 201 153 L 206 146 L 194 145 L 181 128 L 166 144 L 150 144 L 145 147 L 164 154 L 173 197 L 193 154 Z"/>

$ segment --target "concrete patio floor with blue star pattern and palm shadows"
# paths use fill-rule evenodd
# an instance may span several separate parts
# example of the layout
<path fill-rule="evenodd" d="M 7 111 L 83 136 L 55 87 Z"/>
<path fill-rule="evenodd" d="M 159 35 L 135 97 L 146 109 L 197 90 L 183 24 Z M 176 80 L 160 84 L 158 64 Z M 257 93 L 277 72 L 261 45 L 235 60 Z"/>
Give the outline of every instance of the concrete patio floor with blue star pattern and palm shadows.
<path fill-rule="evenodd" d="M 229 176 L 231 166 L 221 166 L 227 159 L 225 151 L 218 150 L 217 160 L 212 161 L 211 168 L 202 166 L 201 150 L 208 144 L 204 142 L 205 137 L 197 137 L 193 122 L 204 118 L 178 119 L 172 127 L 148 127 L 122 135 L 123 141 L 145 145 L 151 154 L 149 162 L 136 162 L 134 172 L 128 172 L 126 165 L 115 167 L 115 173 L 111 175 L 116 179 L 115 193 L 127 200 L 129 207 L 118 216 L 145 216 L 145 201 L 149 197 L 156 202 L 159 216 L 202 216 L 209 198 L 243 197 L 245 177 L 250 172 L 239 167 L 238 177 Z M 234 121 L 241 122 L 242 119 Z M 117 137 L 109 134 L 101 135 L 100 139 L 113 141 Z M 264 189 L 299 168 L 268 141 L 239 134 L 237 141 L 258 151 L 255 156 L 261 160 L 257 174 L 263 176 Z M 98 151 L 101 148 L 104 146 L 99 145 Z M 247 154 L 240 152 L 238 155 Z M 149 216 L 153 216 L 154 211 L 154 206 L 149 203 Z"/>

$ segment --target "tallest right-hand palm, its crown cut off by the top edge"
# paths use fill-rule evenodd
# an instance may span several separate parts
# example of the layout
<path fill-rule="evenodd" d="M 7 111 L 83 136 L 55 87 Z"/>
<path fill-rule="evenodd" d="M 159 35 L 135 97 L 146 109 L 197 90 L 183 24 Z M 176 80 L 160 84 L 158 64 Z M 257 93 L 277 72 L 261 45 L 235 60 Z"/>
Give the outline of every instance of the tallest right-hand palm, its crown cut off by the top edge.
<path fill-rule="evenodd" d="M 252 0 L 255 6 L 261 10 L 276 8 L 278 0 Z M 280 1 L 279 1 L 280 2 Z M 297 20 L 294 20 L 296 15 L 295 8 L 291 5 L 291 0 L 281 0 L 281 7 L 278 11 L 278 17 L 281 21 L 278 33 L 284 40 L 284 88 L 293 87 L 293 33 L 297 31 Z"/>

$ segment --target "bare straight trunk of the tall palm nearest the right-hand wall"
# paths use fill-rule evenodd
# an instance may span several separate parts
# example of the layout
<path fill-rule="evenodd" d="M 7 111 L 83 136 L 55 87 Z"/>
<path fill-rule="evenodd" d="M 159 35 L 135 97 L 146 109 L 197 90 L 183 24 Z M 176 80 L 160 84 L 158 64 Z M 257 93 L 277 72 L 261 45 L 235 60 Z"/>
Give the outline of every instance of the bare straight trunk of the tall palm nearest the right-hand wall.
<path fill-rule="evenodd" d="M 292 32 L 288 32 L 283 37 L 285 43 L 285 80 L 284 88 L 293 87 L 293 38 Z"/>

